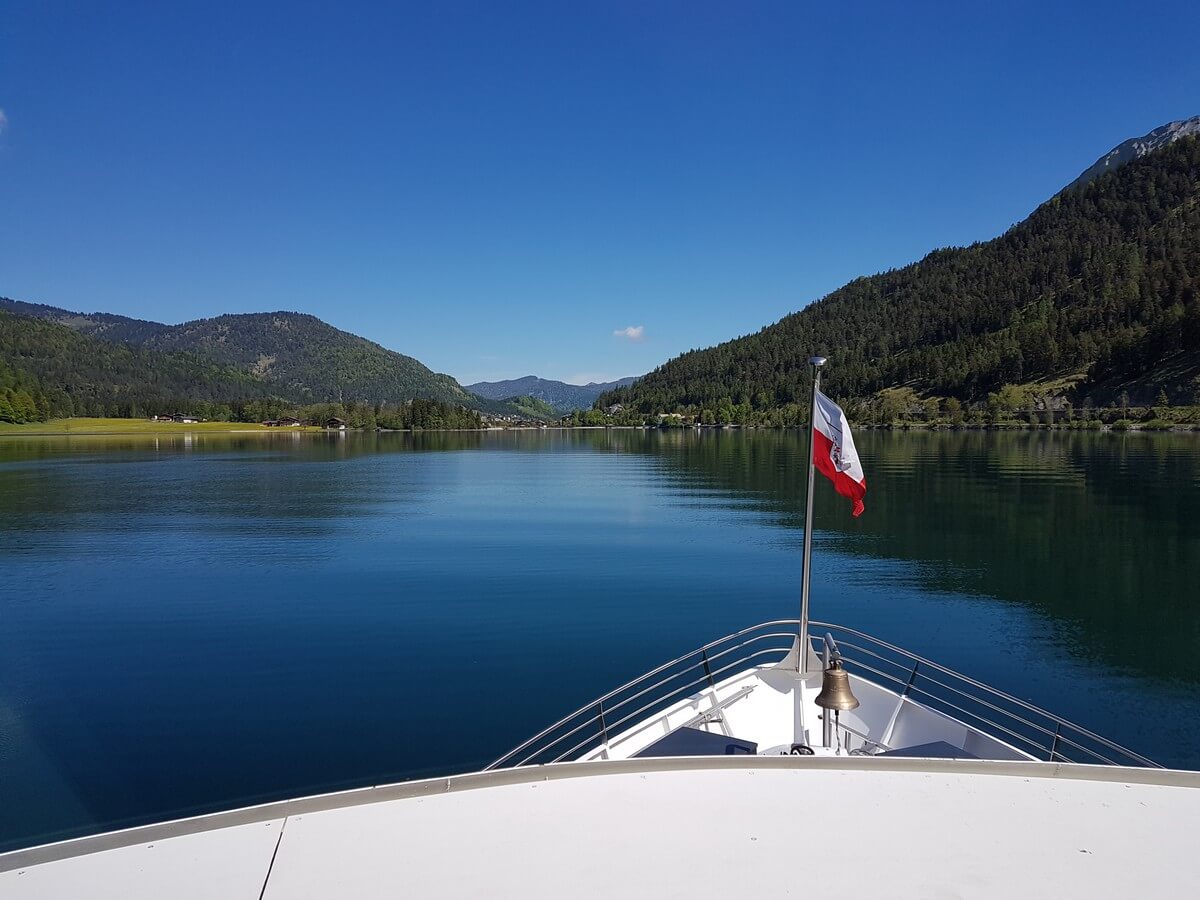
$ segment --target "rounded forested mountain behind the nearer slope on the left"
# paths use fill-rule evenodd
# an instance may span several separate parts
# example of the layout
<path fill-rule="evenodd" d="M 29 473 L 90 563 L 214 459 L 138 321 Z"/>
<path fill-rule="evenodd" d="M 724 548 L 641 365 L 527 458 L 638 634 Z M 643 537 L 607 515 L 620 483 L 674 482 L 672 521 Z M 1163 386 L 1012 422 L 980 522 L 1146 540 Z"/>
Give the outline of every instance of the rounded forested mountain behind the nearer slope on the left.
<path fill-rule="evenodd" d="M 163 325 L 108 313 L 78 313 L 0 299 L 0 310 L 31 316 L 109 342 L 164 353 L 193 353 L 264 382 L 299 402 L 397 403 L 414 397 L 484 406 L 450 376 L 412 356 L 341 331 L 314 316 L 264 312 Z"/>

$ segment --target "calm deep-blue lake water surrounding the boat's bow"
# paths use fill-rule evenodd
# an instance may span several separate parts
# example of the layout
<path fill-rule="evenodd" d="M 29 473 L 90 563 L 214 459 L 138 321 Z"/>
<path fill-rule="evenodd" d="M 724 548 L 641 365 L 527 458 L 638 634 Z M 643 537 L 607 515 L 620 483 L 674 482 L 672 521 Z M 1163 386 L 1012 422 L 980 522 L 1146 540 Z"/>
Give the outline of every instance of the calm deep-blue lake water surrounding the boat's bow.
<path fill-rule="evenodd" d="M 1200 768 L 1200 437 L 859 436 L 812 607 Z M 797 614 L 779 432 L 0 438 L 0 848 L 482 766 Z"/>

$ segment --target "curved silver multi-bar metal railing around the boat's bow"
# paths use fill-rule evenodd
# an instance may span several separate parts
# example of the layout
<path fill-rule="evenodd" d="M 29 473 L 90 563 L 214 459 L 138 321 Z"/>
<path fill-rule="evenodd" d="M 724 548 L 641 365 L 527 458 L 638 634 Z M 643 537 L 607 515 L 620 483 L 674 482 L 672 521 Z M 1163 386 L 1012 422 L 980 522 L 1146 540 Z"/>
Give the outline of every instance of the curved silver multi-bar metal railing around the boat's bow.
<path fill-rule="evenodd" d="M 1062 716 L 887 641 L 842 625 L 824 622 L 810 622 L 809 624 L 812 629 L 810 635 L 817 629 L 827 635 L 815 638 L 818 648 L 827 653 L 839 654 L 848 671 L 860 670 L 884 682 L 890 682 L 898 685 L 896 692 L 901 697 L 935 712 L 942 708 L 943 714 L 958 718 L 968 727 L 977 728 L 1006 743 L 1013 740 L 1026 745 L 1030 748 L 1026 752 L 1044 755 L 1051 762 L 1070 762 L 1064 752 L 1070 749 L 1072 755 L 1075 755 L 1074 751 L 1085 754 L 1091 757 L 1088 761 L 1117 764 L 1110 756 L 1086 745 L 1092 743 L 1108 750 L 1117 760 L 1123 758 L 1128 764 L 1162 768 L 1141 754 L 1121 746 Z M 623 726 L 650 713 L 650 710 L 666 709 L 678 700 L 692 696 L 696 689 L 702 689 L 706 684 L 708 686 L 715 685 L 718 676 L 724 676 L 739 667 L 745 668 L 751 661 L 761 660 L 764 656 L 775 656 L 774 661 L 778 662 L 791 652 L 799 630 L 798 626 L 797 619 L 764 622 L 734 631 L 664 662 L 646 674 L 638 676 L 580 707 L 550 727 L 542 728 L 490 764 L 487 769 L 526 766 L 538 761 L 562 762 L 577 758 L 590 746 L 604 744 L 611 736 L 619 734 Z M 850 640 L 835 641 L 834 635 L 845 635 Z M 775 643 L 761 646 L 767 641 Z M 812 641 L 814 638 L 810 637 L 810 643 Z M 745 653 L 739 653 L 742 650 Z M 847 654 L 847 650 L 857 653 Z M 858 658 L 859 653 L 863 658 Z M 877 660 L 880 664 L 893 667 L 899 674 L 882 671 L 868 660 Z M 714 666 L 716 661 L 720 661 L 721 665 Z M 770 665 L 770 660 L 764 660 L 756 665 Z M 692 673 L 700 670 L 702 673 L 692 677 Z M 935 678 L 923 670 L 929 670 L 942 678 Z M 940 691 L 944 691 L 949 696 L 940 696 Z M 919 695 L 920 700 L 913 695 Z M 964 708 L 964 701 L 990 710 L 994 718 Z M 1003 704 L 1016 707 L 1016 709 L 1004 708 Z M 954 710 L 954 713 L 946 712 L 947 709 Z M 965 719 L 974 720 L 978 725 L 970 725 Z M 1036 719 L 1040 719 L 1040 721 Z M 1021 733 L 1022 730 L 1032 733 Z M 574 739 L 570 742 L 572 745 L 562 750 L 569 739 Z"/>

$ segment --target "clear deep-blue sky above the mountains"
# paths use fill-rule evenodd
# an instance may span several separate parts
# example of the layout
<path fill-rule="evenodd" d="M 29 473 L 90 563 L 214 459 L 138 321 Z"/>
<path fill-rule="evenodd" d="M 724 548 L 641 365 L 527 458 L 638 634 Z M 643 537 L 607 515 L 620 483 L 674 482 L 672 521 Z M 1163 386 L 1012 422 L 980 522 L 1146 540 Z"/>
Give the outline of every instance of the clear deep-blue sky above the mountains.
<path fill-rule="evenodd" d="M 0 294 L 300 310 L 463 383 L 637 374 L 1200 113 L 1198 26 L 1194 0 L 7 0 Z"/>

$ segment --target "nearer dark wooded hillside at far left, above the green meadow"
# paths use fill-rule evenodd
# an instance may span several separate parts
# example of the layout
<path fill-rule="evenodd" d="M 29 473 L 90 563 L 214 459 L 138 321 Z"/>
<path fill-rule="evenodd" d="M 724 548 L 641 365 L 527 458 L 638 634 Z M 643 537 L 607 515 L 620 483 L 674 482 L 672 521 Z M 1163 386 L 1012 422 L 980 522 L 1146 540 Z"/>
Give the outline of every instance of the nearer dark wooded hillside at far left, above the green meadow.
<path fill-rule="evenodd" d="M 0 311 L 0 421 L 198 412 L 270 396 L 262 379 L 194 354 L 108 343 Z"/>

